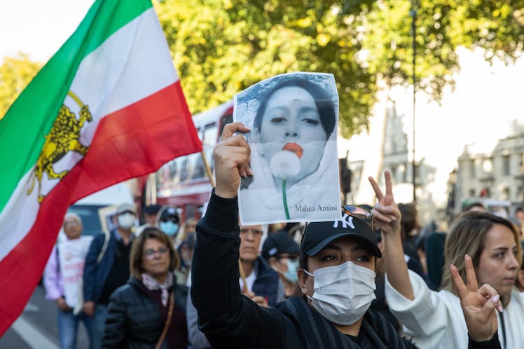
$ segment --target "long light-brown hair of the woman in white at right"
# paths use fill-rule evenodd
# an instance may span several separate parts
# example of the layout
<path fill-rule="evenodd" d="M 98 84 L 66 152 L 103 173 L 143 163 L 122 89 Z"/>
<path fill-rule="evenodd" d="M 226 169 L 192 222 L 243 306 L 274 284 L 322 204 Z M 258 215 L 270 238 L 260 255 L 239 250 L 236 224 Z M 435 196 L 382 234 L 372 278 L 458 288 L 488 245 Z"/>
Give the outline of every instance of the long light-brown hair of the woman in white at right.
<path fill-rule="evenodd" d="M 522 252 L 520 250 L 520 240 L 515 226 L 511 221 L 502 217 L 495 216 L 490 212 L 468 211 L 460 214 L 455 219 L 453 226 L 450 228 L 450 233 L 446 238 L 446 245 L 444 247 L 444 268 L 442 273 L 442 288 L 458 295 L 457 287 L 453 282 L 450 272 L 450 264 L 454 264 L 466 282 L 466 266 L 464 264 L 464 255 L 469 254 L 473 261 L 475 271 L 477 271 L 478 263 L 481 259 L 481 254 L 484 250 L 485 235 L 495 224 L 506 226 L 513 233 L 513 238 L 517 245 L 516 259 L 519 264 L 522 262 Z M 481 285 L 482 280 L 478 280 Z M 509 297 L 502 297 L 504 306 L 509 302 Z"/>

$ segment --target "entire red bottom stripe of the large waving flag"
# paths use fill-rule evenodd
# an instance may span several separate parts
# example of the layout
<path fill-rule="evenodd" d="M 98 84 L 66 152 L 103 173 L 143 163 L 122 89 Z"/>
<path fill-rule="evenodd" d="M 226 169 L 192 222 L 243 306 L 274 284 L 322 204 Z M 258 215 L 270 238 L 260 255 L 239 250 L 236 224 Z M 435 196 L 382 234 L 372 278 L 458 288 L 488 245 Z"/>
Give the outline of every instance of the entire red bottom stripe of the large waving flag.
<path fill-rule="evenodd" d="M 38 284 L 71 203 L 201 150 L 179 81 L 105 116 L 87 155 L 48 193 L 31 231 L 0 261 L 0 336 Z"/>

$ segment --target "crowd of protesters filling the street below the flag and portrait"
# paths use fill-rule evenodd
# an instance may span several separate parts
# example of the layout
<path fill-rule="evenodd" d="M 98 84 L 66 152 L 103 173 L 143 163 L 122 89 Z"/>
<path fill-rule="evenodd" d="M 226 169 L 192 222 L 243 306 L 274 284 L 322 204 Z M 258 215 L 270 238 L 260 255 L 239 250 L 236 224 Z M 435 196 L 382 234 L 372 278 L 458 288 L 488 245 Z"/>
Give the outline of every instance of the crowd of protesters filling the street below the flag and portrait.
<path fill-rule="evenodd" d="M 243 226 L 235 181 L 247 144 L 234 134 L 245 131 L 226 125 L 200 221 L 151 205 L 139 225 L 122 203 L 115 228 L 83 236 L 81 217 L 66 215 L 43 276 L 61 348 L 76 348 L 80 323 L 93 349 L 524 343 L 523 209 L 473 203 L 448 231 L 421 226 L 385 172 L 385 191 L 370 179 L 376 203 L 343 205 L 340 222 Z"/>

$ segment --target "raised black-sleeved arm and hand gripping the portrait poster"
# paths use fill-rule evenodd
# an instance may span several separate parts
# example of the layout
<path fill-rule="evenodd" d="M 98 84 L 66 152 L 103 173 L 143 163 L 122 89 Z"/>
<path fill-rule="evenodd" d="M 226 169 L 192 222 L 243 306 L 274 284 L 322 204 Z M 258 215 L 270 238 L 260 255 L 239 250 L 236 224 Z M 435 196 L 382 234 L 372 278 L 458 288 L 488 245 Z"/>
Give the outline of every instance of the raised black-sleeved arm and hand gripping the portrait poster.
<path fill-rule="evenodd" d="M 216 189 L 196 226 L 191 299 L 199 329 L 213 348 L 282 348 L 283 326 L 275 310 L 258 306 L 240 293 L 236 196 L 240 176 L 251 175 L 251 170 L 249 145 L 236 132 L 247 132 L 247 128 L 242 123 L 226 125 L 222 142 L 214 148 Z"/>

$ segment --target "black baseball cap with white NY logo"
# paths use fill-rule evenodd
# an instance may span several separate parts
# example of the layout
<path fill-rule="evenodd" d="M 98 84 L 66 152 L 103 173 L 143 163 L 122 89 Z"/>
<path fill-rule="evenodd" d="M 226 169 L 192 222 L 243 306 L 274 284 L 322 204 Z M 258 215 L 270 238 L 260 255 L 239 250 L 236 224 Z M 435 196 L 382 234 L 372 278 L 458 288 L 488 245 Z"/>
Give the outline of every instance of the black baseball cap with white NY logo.
<path fill-rule="evenodd" d="M 364 240 L 371 249 L 373 255 L 382 256 L 378 248 L 375 232 L 365 221 L 344 214 L 338 221 L 317 221 L 305 226 L 300 246 L 300 254 L 315 256 L 330 242 L 338 238 L 349 236 Z"/>

